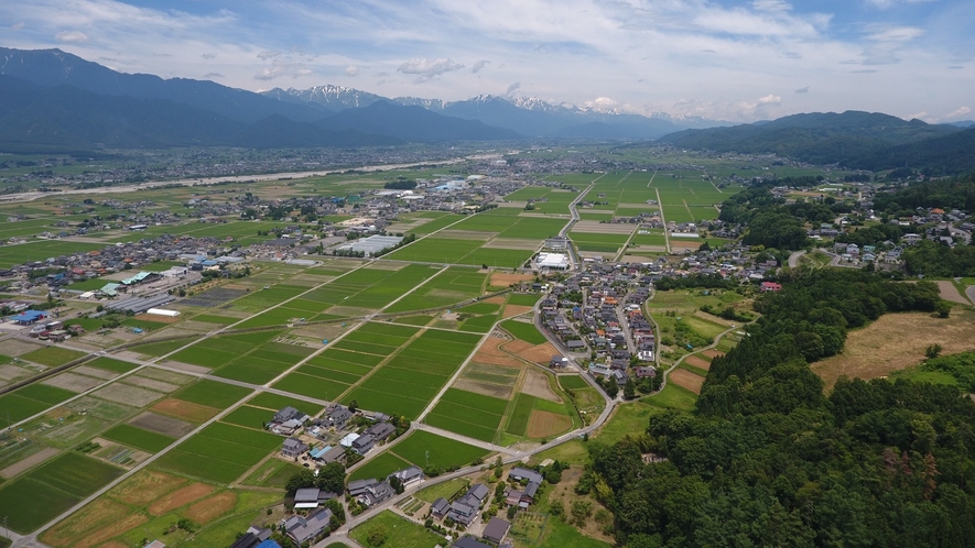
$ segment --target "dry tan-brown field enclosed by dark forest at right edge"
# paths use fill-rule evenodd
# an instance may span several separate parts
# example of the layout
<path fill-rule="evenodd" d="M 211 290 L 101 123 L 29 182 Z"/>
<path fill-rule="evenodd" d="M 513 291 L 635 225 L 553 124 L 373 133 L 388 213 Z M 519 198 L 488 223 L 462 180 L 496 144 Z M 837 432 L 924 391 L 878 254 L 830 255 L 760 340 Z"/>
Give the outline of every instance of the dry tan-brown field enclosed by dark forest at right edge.
<path fill-rule="evenodd" d="M 941 344 L 942 353 L 972 350 L 975 311 L 952 310 L 950 318 L 928 313 L 886 314 L 869 326 L 851 331 L 839 355 L 813 363 L 811 369 L 831 388 L 841 375 L 877 379 L 891 371 L 918 364 L 929 344 Z"/>

